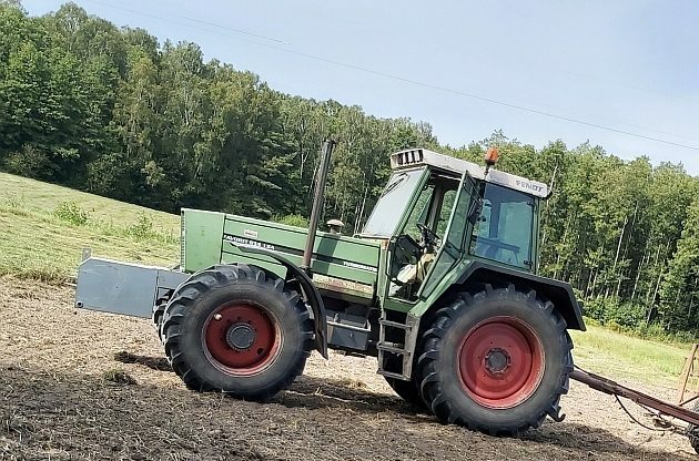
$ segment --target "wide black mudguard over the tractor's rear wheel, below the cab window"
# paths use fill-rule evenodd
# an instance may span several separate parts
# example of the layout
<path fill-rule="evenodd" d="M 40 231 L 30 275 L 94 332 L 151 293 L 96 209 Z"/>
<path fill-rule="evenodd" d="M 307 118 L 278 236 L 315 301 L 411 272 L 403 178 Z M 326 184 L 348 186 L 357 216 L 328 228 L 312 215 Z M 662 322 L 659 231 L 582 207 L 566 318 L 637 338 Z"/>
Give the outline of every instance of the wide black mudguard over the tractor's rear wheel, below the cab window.
<path fill-rule="evenodd" d="M 556 310 L 560 313 L 569 329 L 585 331 L 585 321 L 582 320 L 582 309 L 573 293 L 570 284 L 553 278 L 541 277 L 535 274 L 528 274 L 520 270 L 509 269 L 506 267 L 488 264 L 484 262 L 474 262 L 468 269 L 462 274 L 458 279 L 459 284 L 466 281 L 493 281 L 507 279 L 513 283 L 521 283 L 523 285 L 533 286 L 538 293 L 546 296 L 548 300 L 554 303 Z"/>

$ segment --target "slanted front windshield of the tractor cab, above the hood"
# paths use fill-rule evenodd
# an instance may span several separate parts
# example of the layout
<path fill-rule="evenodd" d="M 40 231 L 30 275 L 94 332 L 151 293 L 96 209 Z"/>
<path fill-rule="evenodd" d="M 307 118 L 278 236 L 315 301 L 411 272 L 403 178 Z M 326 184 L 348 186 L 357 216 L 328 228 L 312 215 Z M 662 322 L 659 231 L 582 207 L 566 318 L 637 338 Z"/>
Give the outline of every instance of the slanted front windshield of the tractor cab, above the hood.
<path fill-rule="evenodd" d="M 419 184 L 425 168 L 396 172 L 378 197 L 362 235 L 391 237 Z"/>

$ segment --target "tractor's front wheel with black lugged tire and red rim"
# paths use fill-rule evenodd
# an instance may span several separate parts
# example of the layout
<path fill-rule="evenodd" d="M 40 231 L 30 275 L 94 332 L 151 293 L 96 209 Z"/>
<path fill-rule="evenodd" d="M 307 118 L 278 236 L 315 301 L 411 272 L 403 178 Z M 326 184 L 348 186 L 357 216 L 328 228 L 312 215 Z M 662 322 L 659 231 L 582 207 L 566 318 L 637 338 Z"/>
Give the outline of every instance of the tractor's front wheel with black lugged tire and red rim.
<path fill-rule="evenodd" d="M 303 372 L 313 320 L 297 293 L 259 267 L 215 266 L 173 294 L 165 355 L 188 388 L 264 401 Z"/>

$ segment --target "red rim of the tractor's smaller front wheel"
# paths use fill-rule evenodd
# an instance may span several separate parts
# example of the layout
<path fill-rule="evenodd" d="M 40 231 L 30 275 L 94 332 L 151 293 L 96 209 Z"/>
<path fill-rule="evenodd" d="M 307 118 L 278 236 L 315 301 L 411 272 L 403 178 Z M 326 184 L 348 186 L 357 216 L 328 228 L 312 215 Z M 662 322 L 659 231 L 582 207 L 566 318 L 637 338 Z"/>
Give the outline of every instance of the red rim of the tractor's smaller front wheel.
<path fill-rule="evenodd" d="M 211 362 L 234 376 L 254 375 L 274 361 L 281 335 L 276 320 L 252 304 L 227 304 L 204 324 L 204 350 Z"/>

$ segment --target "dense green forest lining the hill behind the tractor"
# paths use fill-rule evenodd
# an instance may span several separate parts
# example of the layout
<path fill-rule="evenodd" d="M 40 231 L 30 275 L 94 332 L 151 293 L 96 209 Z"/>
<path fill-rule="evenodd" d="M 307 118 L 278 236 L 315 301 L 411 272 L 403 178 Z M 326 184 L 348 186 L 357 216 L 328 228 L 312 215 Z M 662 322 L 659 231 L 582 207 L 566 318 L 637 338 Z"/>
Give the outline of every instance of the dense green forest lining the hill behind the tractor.
<path fill-rule="evenodd" d="M 536 148 L 499 130 L 440 145 L 428 123 L 283 94 L 205 61 L 195 43 L 160 43 L 74 3 L 37 18 L 0 0 L 2 171 L 172 213 L 304 225 L 325 137 L 338 141 L 325 218 L 347 232 L 368 217 L 389 153 L 422 146 L 482 162 L 497 146 L 498 168 L 554 185 L 543 275 L 573 284 L 586 315 L 609 327 L 696 337 L 699 181 L 680 163 L 622 161 L 592 143 Z"/>

